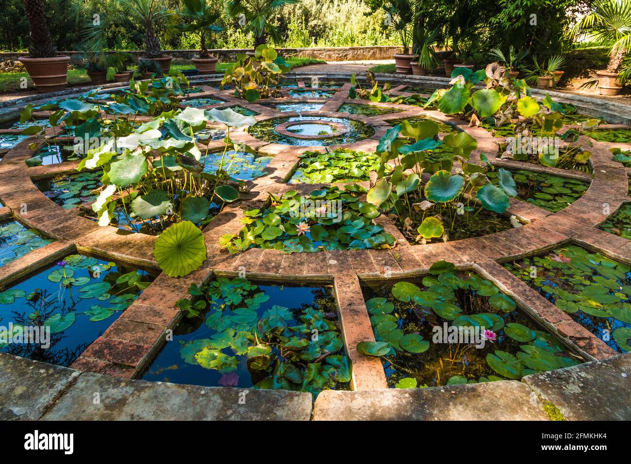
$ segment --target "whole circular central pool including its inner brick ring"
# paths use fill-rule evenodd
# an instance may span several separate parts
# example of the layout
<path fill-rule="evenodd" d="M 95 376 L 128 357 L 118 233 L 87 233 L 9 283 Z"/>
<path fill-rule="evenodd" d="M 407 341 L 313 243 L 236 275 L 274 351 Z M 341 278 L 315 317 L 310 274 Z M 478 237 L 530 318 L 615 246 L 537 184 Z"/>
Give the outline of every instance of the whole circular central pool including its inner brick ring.
<path fill-rule="evenodd" d="M 369 138 L 375 129 L 346 117 L 274 117 L 248 129 L 257 139 L 283 145 L 328 146 Z"/>

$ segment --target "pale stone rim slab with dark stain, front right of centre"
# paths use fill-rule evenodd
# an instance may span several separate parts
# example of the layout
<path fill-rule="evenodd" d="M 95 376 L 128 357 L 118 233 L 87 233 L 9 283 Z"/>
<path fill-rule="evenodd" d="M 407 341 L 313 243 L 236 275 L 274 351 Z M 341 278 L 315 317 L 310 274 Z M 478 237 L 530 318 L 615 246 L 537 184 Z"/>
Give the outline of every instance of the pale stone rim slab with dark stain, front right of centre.
<path fill-rule="evenodd" d="M 314 420 L 546 420 L 525 384 L 497 381 L 435 388 L 322 391 Z"/>

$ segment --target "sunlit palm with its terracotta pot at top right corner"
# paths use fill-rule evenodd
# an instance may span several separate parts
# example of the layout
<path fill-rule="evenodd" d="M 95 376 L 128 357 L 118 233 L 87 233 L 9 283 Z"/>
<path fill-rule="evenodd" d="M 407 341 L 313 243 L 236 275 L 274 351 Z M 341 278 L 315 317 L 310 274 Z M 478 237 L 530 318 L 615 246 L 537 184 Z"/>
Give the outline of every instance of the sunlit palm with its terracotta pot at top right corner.
<path fill-rule="evenodd" d="M 618 95 L 623 82 L 620 75 L 628 74 L 621 67 L 631 41 L 631 0 L 597 0 L 591 8 L 572 28 L 570 37 L 589 34 L 591 42 L 611 44 L 607 69 L 596 75 L 601 95 Z"/>

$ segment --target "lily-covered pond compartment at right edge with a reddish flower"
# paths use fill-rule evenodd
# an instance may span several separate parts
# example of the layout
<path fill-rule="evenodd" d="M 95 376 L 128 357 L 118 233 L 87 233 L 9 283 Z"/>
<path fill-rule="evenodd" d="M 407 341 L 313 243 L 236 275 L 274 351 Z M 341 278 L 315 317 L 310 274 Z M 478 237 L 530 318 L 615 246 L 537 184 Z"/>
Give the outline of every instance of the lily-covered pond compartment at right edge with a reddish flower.
<path fill-rule="evenodd" d="M 631 351 L 630 266 L 569 245 L 504 267 L 614 350 Z"/>

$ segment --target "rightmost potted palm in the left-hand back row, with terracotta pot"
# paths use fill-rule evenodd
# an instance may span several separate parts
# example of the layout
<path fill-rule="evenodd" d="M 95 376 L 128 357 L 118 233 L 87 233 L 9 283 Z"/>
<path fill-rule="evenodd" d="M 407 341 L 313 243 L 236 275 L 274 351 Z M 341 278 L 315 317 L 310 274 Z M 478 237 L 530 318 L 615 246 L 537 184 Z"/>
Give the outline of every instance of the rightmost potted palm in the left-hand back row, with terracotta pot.
<path fill-rule="evenodd" d="M 199 33 L 199 57 L 192 58 L 191 61 L 199 73 L 215 73 L 219 58 L 211 56 L 208 52 L 206 39 L 211 33 L 223 30 L 223 27 L 215 25 L 220 20 L 221 13 L 209 6 L 206 0 L 182 0 L 182 3 L 184 9 L 178 14 L 183 22 L 174 28 L 180 32 Z"/>

